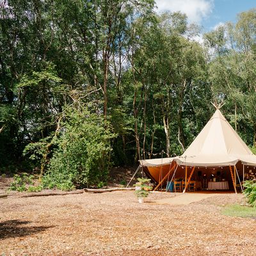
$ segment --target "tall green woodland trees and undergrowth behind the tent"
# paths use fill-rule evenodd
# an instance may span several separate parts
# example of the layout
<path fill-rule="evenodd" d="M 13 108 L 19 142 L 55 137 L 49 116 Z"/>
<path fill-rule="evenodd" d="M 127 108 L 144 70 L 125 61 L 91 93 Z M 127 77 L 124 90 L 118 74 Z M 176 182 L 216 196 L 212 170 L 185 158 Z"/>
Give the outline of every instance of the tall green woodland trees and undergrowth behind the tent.
<path fill-rule="evenodd" d="M 1 174 L 103 186 L 182 154 L 215 100 L 255 152 L 255 59 L 256 9 L 204 31 L 152 0 L 0 1 Z"/>

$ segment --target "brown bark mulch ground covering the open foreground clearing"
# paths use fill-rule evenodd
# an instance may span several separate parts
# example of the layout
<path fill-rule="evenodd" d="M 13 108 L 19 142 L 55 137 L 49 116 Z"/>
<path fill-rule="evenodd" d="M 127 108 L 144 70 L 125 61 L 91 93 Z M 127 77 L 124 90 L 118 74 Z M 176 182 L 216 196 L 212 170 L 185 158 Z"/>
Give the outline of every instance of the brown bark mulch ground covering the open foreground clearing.
<path fill-rule="evenodd" d="M 254 255 L 256 220 L 223 216 L 243 195 L 138 204 L 133 191 L 0 199 L 0 255 Z"/>

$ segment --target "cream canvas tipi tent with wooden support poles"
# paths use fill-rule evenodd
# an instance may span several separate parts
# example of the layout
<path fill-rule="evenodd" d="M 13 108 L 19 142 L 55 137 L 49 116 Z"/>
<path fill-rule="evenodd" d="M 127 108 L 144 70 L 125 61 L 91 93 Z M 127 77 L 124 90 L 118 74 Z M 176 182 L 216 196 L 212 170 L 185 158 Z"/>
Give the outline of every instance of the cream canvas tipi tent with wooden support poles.
<path fill-rule="evenodd" d="M 208 172 L 209 170 L 213 172 L 221 168 L 226 174 L 229 173 L 236 191 L 239 172 L 241 175 L 241 169 L 243 169 L 244 177 L 244 166 L 256 166 L 256 156 L 227 122 L 220 109 L 217 108 L 204 129 L 182 156 L 141 160 L 140 165 L 145 173 L 158 183 L 157 188 L 172 176 L 172 173 L 177 172 L 177 170 L 182 172 L 181 168 L 184 169 L 184 167 L 186 184 L 188 184 L 195 169 L 206 172 L 208 168 Z M 239 183 L 241 184 L 240 180 Z"/>

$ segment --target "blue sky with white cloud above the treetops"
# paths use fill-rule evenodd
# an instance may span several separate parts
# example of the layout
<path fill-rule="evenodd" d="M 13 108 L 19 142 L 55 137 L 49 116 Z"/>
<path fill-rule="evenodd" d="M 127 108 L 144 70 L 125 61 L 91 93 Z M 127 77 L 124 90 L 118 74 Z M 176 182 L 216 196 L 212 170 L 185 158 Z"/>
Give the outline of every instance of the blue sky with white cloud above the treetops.
<path fill-rule="evenodd" d="M 182 12 L 189 23 L 210 31 L 227 21 L 236 22 L 237 13 L 256 8 L 256 0 L 155 0 L 157 12 Z"/>

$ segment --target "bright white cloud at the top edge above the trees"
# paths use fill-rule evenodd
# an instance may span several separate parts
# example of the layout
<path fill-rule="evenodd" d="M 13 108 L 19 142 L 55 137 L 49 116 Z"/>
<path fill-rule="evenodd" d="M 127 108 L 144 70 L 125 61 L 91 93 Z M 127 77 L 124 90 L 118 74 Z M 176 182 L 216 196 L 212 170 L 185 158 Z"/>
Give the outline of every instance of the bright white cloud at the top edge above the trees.
<path fill-rule="evenodd" d="M 213 0 L 156 0 L 157 12 L 182 12 L 188 15 L 189 23 L 201 24 L 212 12 Z"/>

